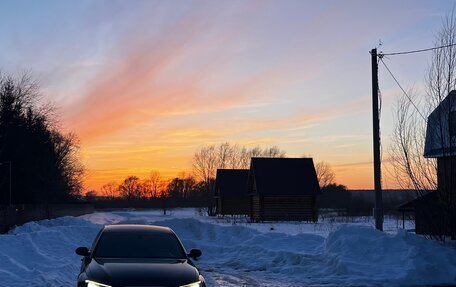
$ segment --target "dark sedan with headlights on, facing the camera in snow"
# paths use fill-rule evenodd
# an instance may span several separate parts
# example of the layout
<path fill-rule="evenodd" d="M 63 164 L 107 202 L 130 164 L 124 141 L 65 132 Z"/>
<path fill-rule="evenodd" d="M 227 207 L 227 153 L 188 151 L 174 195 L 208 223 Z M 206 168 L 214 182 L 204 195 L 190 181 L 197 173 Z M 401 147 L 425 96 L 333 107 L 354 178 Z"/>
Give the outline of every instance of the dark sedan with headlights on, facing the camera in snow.
<path fill-rule="evenodd" d="M 79 247 L 84 256 L 78 287 L 167 286 L 205 287 L 204 278 L 177 235 L 167 227 L 151 225 L 108 225 L 92 248 Z"/>

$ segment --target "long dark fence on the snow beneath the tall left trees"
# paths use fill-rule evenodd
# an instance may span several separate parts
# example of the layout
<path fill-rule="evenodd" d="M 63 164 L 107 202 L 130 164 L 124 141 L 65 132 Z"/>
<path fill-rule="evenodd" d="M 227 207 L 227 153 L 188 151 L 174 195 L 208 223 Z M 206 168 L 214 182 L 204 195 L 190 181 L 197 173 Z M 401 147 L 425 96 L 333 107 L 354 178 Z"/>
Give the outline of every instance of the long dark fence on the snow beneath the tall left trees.
<path fill-rule="evenodd" d="M 79 216 L 92 212 L 94 212 L 94 207 L 89 203 L 0 206 L 0 233 L 8 232 L 13 226 L 22 225 L 34 220 L 51 219 L 67 215 Z"/>

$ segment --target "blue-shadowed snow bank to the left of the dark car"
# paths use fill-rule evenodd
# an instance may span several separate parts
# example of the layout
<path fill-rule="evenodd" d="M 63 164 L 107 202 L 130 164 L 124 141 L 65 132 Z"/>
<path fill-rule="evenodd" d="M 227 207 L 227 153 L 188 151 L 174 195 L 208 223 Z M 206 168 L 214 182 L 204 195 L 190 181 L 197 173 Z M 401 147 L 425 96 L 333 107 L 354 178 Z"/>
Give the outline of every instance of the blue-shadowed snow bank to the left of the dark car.
<path fill-rule="evenodd" d="M 100 230 L 86 220 L 62 217 L 26 223 L 0 236 L 0 286 L 74 286 L 79 246 Z"/>

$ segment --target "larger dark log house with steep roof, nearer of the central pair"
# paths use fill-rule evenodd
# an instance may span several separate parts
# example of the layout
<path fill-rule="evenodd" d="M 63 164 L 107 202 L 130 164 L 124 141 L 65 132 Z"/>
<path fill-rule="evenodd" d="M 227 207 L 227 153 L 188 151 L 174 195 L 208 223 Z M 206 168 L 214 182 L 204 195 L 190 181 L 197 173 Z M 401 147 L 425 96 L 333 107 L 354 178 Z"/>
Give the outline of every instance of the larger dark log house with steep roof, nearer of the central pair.
<path fill-rule="evenodd" d="M 317 221 L 317 174 L 311 158 L 252 158 L 250 217 L 254 221 Z"/>

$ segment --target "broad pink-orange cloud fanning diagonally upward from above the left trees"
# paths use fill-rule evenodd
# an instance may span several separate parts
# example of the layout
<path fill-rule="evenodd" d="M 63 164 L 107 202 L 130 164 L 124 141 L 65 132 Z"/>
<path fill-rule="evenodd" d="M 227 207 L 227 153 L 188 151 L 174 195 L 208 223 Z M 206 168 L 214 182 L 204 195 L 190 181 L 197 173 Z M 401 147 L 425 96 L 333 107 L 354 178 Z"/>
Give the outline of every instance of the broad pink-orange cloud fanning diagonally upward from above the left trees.
<path fill-rule="evenodd" d="M 215 97 L 214 93 L 205 91 L 204 79 L 223 66 L 223 61 L 217 59 L 192 66 L 188 64 L 189 59 L 201 58 L 207 52 L 193 46 L 201 48 L 198 45 L 204 44 L 206 49 L 216 50 L 229 38 L 235 38 L 239 30 L 229 30 L 222 41 L 205 39 L 207 21 L 203 16 L 207 18 L 207 15 L 203 13 L 199 9 L 192 10 L 158 36 L 148 36 L 139 30 L 141 21 L 138 20 L 134 31 L 119 43 L 116 59 L 106 62 L 99 75 L 88 83 L 87 92 L 71 103 L 65 113 L 70 127 L 88 141 L 161 115 L 227 107 L 245 100 L 249 86 L 274 77 L 259 71 L 234 88 L 222 93 L 215 91 Z M 147 21 L 143 25 L 147 25 Z M 182 79 L 175 75 L 180 69 L 192 68 L 197 69 L 197 73 L 190 71 Z"/>

